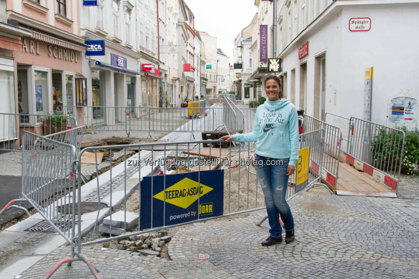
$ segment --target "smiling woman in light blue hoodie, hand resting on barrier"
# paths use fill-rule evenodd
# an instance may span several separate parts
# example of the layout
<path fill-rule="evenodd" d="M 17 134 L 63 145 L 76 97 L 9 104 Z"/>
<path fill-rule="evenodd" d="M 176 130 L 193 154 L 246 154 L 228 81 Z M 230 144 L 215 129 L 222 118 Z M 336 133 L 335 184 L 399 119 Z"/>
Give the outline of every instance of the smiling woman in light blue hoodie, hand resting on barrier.
<path fill-rule="evenodd" d="M 265 79 L 268 100 L 256 110 L 253 131 L 246 134 L 223 136 L 234 140 L 256 143 L 256 166 L 268 212 L 269 237 L 263 246 L 282 242 L 279 216 L 284 222 L 285 243 L 294 241 L 294 218 L 285 200 L 288 178 L 295 171 L 298 159 L 298 116 L 295 106 L 282 95 L 281 81 L 269 75 Z"/>

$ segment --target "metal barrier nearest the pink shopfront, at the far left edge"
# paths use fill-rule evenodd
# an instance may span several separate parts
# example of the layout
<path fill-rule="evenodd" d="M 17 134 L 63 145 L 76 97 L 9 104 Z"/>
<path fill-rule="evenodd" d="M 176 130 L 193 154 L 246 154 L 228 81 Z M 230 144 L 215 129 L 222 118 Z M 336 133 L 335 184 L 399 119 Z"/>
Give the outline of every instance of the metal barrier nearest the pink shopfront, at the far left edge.
<path fill-rule="evenodd" d="M 77 122 L 71 115 L 0 113 L 0 150 L 22 150 L 23 131 L 49 135 L 65 131 L 67 125 L 77 127 Z"/>

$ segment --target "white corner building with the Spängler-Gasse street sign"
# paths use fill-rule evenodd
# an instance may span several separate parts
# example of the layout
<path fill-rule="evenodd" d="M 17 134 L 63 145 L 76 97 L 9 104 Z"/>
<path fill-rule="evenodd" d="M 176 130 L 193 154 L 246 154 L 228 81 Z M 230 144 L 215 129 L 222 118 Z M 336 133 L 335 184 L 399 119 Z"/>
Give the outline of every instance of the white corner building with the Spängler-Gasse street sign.
<path fill-rule="evenodd" d="M 365 73 L 373 67 L 371 121 L 417 128 L 419 65 L 413 61 L 418 61 L 419 54 L 412 46 L 419 38 L 412 36 L 412 30 L 419 30 L 419 1 L 341 0 L 324 11 L 328 3 L 323 2 L 310 1 L 308 10 L 300 13 L 301 5 L 308 3 L 298 0 L 282 7 L 285 15 L 280 12 L 283 23 L 302 24 L 285 28 L 298 33 L 279 45 L 287 97 L 319 119 L 326 112 L 369 118 L 364 112 L 368 105 Z M 305 19 L 299 19 L 300 15 Z M 394 116 L 393 106 L 404 110 L 404 119 Z M 347 123 L 329 116 L 327 121 L 341 126 L 345 136 Z"/>

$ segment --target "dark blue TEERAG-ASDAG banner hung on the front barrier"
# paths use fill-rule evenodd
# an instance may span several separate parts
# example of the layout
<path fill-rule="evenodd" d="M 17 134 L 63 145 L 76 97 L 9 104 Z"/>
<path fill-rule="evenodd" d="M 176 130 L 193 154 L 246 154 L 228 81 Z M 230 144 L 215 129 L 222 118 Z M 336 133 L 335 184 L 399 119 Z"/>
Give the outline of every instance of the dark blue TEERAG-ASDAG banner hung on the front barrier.
<path fill-rule="evenodd" d="M 166 175 L 166 192 L 164 179 L 164 175 L 143 177 L 140 187 L 141 230 L 163 226 L 163 218 L 164 225 L 174 225 L 197 220 L 198 217 L 203 219 L 222 215 L 224 170 Z"/>

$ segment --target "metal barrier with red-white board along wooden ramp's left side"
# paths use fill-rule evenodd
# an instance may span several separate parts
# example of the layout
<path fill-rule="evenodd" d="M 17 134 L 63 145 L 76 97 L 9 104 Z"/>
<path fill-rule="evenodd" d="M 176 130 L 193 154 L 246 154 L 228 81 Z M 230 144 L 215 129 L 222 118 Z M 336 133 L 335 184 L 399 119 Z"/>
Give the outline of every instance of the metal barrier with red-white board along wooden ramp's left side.
<path fill-rule="evenodd" d="M 344 156 L 341 155 L 342 131 L 340 128 L 332 126 L 324 121 L 318 120 L 308 115 L 304 115 L 303 133 L 323 129 L 324 143 L 323 146 L 323 161 L 321 174 L 323 180 L 331 187 L 332 191 L 336 193 L 336 186 L 339 172 L 339 159 L 344 161 Z M 324 170 L 324 171 L 323 171 Z"/>

